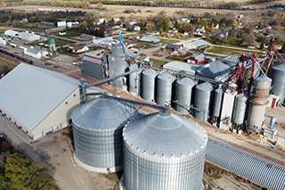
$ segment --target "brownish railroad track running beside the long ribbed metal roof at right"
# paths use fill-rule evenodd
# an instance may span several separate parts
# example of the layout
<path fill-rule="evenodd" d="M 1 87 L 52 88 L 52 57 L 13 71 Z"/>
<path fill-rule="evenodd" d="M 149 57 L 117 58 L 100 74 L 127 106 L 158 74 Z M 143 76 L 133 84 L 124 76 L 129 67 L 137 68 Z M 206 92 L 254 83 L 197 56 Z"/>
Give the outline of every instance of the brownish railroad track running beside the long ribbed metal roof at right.
<path fill-rule="evenodd" d="M 247 148 L 247 147 L 245 147 L 243 145 L 238 145 L 238 144 L 232 143 L 231 141 L 226 140 L 224 138 L 221 138 L 219 136 L 214 136 L 212 134 L 208 134 L 208 136 L 210 136 L 212 138 L 215 138 L 216 140 L 218 140 L 220 142 L 223 142 L 223 143 L 225 143 L 227 145 L 232 145 L 233 147 L 238 148 L 241 151 L 245 151 L 247 153 L 251 153 L 251 154 L 253 154 L 253 155 L 255 155 L 255 156 L 259 157 L 259 158 L 265 159 L 266 161 L 272 161 L 273 163 L 278 164 L 281 167 L 285 167 L 285 162 L 284 161 L 279 161 L 277 159 L 274 159 L 273 157 L 265 155 L 264 153 L 258 153 L 258 152 L 254 151 L 252 149 L 249 149 L 249 148 Z M 265 148 L 265 149 L 267 149 L 267 148 Z M 273 150 L 270 149 L 270 151 L 273 151 Z M 274 151 L 274 153 L 277 153 L 277 152 Z M 283 155 L 283 153 L 282 153 L 282 155 Z"/>

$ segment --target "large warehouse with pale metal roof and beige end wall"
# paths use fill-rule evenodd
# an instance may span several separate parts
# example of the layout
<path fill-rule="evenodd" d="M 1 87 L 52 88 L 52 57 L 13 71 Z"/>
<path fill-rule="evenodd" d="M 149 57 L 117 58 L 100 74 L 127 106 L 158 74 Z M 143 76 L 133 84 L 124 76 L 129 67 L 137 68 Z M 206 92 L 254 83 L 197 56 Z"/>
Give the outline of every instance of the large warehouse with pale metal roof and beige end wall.
<path fill-rule="evenodd" d="M 79 85 L 75 78 L 20 63 L 0 79 L 0 112 L 37 139 L 69 125 L 80 103 Z"/>

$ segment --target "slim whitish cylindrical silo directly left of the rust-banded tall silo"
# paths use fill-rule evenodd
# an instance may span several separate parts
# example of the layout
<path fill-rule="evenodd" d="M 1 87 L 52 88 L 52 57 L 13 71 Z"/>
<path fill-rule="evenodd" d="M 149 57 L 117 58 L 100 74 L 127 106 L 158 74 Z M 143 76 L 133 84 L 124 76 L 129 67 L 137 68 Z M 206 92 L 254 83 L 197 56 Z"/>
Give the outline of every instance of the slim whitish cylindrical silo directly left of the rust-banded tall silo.
<path fill-rule="evenodd" d="M 244 116 L 247 111 L 248 97 L 244 94 L 235 96 L 233 113 L 232 113 L 232 128 L 235 130 L 243 129 Z"/>

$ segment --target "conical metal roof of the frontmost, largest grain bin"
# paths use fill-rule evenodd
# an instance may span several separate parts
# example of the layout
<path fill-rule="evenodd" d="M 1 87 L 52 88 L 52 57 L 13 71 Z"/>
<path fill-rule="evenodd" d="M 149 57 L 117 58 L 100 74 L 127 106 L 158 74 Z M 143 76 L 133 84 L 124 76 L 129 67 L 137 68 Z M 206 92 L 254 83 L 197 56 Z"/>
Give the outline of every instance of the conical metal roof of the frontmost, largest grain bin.
<path fill-rule="evenodd" d="M 191 156 L 205 148 L 208 136 L 192 120 L 171 112 L 157 112 L 133 120 L 123 129 L 127 145 L 151 156 Z"/>

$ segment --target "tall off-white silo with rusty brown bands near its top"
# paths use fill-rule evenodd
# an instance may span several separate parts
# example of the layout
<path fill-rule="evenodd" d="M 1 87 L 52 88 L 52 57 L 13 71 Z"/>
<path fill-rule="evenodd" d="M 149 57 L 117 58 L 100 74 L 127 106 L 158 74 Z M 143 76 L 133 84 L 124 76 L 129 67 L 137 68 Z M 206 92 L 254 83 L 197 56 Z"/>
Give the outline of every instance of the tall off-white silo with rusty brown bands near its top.
<path fill-rule="evenodd" d="M 253 82 L 249 99 L 248 129 L 259 132 L 265 120 L 265 108 L 268 103 L 272 79 L 262 75 Z"/>

